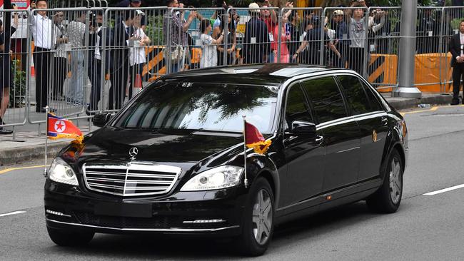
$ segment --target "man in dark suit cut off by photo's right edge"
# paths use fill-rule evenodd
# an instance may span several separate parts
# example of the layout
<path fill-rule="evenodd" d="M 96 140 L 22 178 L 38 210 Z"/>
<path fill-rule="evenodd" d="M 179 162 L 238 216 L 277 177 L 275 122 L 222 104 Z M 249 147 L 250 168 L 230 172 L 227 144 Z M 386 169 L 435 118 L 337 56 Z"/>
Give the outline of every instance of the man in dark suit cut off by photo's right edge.
<path fill-rule="evenodd" d="M 453 101 L 451 105 L 459 104 L 460 79 L 464 73 L 464 20 L 460 22 L 459 33 L 450 40 L 451 66 L 453 67 Z"/>

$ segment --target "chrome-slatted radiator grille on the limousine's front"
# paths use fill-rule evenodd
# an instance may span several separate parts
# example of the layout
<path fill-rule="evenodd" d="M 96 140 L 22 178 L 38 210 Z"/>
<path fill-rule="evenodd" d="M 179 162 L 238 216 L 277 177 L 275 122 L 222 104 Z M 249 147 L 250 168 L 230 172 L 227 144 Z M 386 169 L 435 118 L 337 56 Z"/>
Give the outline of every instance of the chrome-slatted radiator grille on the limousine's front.
<path fill-rule="evenodd" d="M 150 193 L 138 193 L 135 195 L 126 195 L 126 188 L 127 188 L 127 178 L 128 178 L 128 172 L 129 168 L 132 166 L 139 166 L 136 170 L 152 170 L 152 171 L 159 171 L 159 172 L 166 172 L 166 173 L 176 173 L 176 175 L 172 176 L 172 182 L 171 185 L 168 186 L 163 191 L 158 191 L 158 192 L 150 192 Z M 91 188 L 91 185 L 89 185 L 89 182 L 87 181 L 87 176 L 86 176 L 86 168 L 99 168 L 99 169 L 104 169 L 104 168 L 111 168 L 111 169 L 120 169 L 120 170 L 126 170 L 125 178 L 124 178 L 124 187 L 122 188 L 123 193 L 115 193 L 115 192 L 110 192 L 106 190 L 99 190 L 98 188 Z M 156 168 L 156 170 L 153 170 L 153 168 Z M 136 197 L 136 196 L 144 196 L 144 195 L 160 195 L 160 194 L 166 194 L 171 189 L 173 188 L 174 184 L 176 184 L 176 180 L 178 180 L 179 175 L 182 173 L 182 169 L 176 166 L 171 166 L 171 165 L 161 165 L 161 164 L 156 164 L 156 163 L 147 163 L 147 162 L 140 162 L 140 161 L 131 161 L 125 165 L 87 165 L 87 163 L 84 163 L 82 165 L 82 173 L 84 175 L 84 184 L 86 185 L 86 188 L 91 190 L 91 191 L 96 191 L 99 193 L 106 193 L 110 195 L 118 195 L 122 197 Z M 155 174 L 156 175 L 156 174 Z M 136 174 L 135 177 L 138 175 Z M 156 177 L 155 177 L 156 178 Z M 169 177 L 171 178 L 171 177 Z"/>

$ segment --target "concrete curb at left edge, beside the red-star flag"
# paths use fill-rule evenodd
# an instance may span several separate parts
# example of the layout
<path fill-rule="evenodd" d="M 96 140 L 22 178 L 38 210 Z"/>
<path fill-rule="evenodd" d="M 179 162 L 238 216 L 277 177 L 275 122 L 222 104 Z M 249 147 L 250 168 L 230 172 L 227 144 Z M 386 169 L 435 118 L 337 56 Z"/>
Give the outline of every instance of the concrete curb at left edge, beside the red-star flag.
<path fill-rule="evenodd" d="M 69 142 L 51 143 L 47 148 L 47 156 L 54 157 Z M 25 161 L 44 158 L 45 145 L 31 145 L 28 147 L 7 148 L 0 151 L 0 165 L 11 165 Z"/>

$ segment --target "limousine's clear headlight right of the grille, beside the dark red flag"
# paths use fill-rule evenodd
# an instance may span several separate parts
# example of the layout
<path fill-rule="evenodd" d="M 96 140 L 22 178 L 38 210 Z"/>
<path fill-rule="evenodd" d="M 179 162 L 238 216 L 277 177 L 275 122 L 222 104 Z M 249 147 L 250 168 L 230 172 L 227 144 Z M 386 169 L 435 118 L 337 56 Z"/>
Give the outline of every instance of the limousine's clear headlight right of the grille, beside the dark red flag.
<path fill-rule="evenodd" d="M 223 165 L 218 168 L 212 168 L 199 173 L 187 181 L 181 188 L 181 191 L 196 190 L 218 190 L 221 188 L 230 188 L 238 185 L 240 182 L 243 168 Z"/>

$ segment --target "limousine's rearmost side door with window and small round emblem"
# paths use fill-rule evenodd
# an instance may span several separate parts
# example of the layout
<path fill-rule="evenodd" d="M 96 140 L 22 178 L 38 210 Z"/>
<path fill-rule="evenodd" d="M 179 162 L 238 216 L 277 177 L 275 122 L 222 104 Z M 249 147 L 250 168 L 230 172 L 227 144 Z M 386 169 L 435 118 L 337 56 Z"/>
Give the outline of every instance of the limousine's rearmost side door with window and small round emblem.
<path fill-rule="evenodd" d="M 343 88 L 351 113 L 360 128 L 360 169 L 358 181 L 380 174 L 383 148 L 388 134 L 388 118 L 373 90 L 358 76 L 341 75 Z"/>

